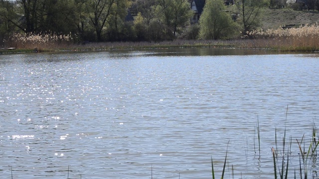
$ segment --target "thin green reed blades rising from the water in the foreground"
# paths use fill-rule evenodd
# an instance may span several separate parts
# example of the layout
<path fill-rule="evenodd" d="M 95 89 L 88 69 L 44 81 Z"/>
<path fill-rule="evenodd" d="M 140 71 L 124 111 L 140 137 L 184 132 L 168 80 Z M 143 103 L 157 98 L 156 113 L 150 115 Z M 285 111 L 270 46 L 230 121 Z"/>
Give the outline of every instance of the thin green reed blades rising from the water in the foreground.
<path fill-rule="evenodd" d="M 299 155 L 299 163 L 295 163 L 295 165 L 291 162 L 291 155 L 293 155 L 293 152 L 291 150 L 292 145 L 293 145 L 293 138 L 289 137 L 287 139 L 286 134 L 287 134 L 287 128 L 286 128 L 286 123 L 287 123 L 287 117 L 288 117 L 288 105 L 287 105 L 287 110 L 286 110 L 286 119 L 285 119 L 285 130 L 283 133 L 282 141 L 281 144 L 279 144 L 279 141 L 277 140 L 277 128 L 275 128 L 275 147 L 271 147 L 271 154 L 272 154 L 272 160 L 273 160 L 273 169 L 274 169 L 274 179 L 289 179 L 292 178 L 289 176 L 289 171 L 291 175 L 294 175 L 294 178 L 297 178 L 296 170 L 299 171 L 299 178 L 300 179 L 308 179 L 309 174 L 313 174 L 312 178 L 313 179 L 318 179 L 318 171 L 317 171 L 317 148 L 319 145 L 319 135 L 318 135 L 318 129 L 315 125 L 315 122 L 313 123 L 312 126 L 312 135 L 311 135 L 311 140 L 310 144 L 306 144 L 305 140 L 305 134 L 302 136 L 301 140 L 296 139 L 298 150 L 300 151 L 298 153 Z M 260 127 L 259 127 L 259 118 L 257 119 L 257 127 L 255 126 L 255 134 L 256 134 L 256 128 L 257 128 L 257 133 L 258 137 L 260 138 Z M 288 141 L 289 140 L 289 141 Z M 254 140 L 255 141 L 255 140 Z M 288 142 L 288 145 L 287 145 Z M 259 144 L 261 141 L 259 141 Z M 227 153 L 228 153 L 228 145 L 227 144 L 227 149 L 226 149 L 226 157 L 225 157 L 225 162 L 227 159 Z M 279 146 L 282 146 L 281 149 L 279 149 Z M 254 148 L 255 148 L 255 142 L 254 142 Z M 256 151 L 255 151 L 256 153 Z M 293 162 L 296 162 L 296 160 L 293 160 Z M 296 165 L 297 164 L 297 165 Z M 310 168 L 311 165 L 311 168 Z M 212 174 L 213 174 L 213 179 L 214 179 L 214 174 L 216 173 L 214 171 L 213 167 L 213 160 L 211 158 L 211 166 L 212 166 Z M 293 167 L 291 167 L 293 166 Z M 296 168 L 298 166 L 298 168 Z M 228 167 L 229 168 L 229 167 Z M 225 170 L 225 163 L 224 163 L 224 168 L 223 168 L 223 173 Z M 232 170 L 232 175 L 234 176 L 234 167 L 233 165 L 231 166 Z M 223 178 L 223 174 L 222 174 Z"/>

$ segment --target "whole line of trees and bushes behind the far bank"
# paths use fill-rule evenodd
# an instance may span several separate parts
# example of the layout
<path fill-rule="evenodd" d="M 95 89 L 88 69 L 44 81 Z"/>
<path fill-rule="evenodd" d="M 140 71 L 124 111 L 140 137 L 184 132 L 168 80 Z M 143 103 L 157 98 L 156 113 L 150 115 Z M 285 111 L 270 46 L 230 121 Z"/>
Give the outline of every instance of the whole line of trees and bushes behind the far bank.
<path fill-rule="evenodd" d="M 257 29 L 262 7 L 286 3 L 235 0 L 226 7 L 225 0 L 206 0 L 199 23 L 191 25 L 190 1 L 0 0 L 0 40 L 12 33 L 72 34 L 77 41 L 96 42 L 227 39 Z M 319 0 L 299 4 L 315 9 Z M 134 20 L 126 18 L 131 12 Z"/>

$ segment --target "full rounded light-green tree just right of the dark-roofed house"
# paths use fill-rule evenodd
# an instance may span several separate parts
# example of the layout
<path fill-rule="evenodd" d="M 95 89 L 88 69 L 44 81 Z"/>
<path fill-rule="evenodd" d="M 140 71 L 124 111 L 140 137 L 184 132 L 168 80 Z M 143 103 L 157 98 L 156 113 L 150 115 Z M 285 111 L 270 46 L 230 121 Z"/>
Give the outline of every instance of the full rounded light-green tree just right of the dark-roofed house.
<path fill-rule="evenodd" d="M 225 11 L 223 0 L 206 0 L 199 19 L 199 36 L 202 39 L 225 39 L 236 31 L 236 24 Z"/>

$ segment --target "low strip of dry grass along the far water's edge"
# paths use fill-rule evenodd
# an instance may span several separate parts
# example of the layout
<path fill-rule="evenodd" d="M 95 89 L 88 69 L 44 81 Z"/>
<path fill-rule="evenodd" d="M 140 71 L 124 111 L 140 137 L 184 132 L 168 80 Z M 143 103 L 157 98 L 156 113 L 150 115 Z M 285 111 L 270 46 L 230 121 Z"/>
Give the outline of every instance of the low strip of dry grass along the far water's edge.
<path fill-rule="evenodd" d="M 41 53 L 41 52 L 88 52 L 116 50 L 147 50 L 147 49 L 177 49 L 177 48 L 225 48 L 225 49 L 263 49 L 281 52 L 314 52 L 318 47 L 279 46 L 273 44 L 277 39 L 240 39 L 240 40 L 174 40 L 162 42 L 89 42 L 84 45 L 62 44 L 47 48 L 2 48 L 0 54 Z M 279 40 L 280 42 L 280 40 Z M 272 45 L 269 45 L 272 44 Z M 38 44 L 36 46 L 43 46 Z"/>

